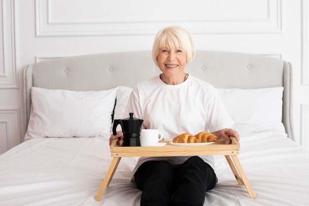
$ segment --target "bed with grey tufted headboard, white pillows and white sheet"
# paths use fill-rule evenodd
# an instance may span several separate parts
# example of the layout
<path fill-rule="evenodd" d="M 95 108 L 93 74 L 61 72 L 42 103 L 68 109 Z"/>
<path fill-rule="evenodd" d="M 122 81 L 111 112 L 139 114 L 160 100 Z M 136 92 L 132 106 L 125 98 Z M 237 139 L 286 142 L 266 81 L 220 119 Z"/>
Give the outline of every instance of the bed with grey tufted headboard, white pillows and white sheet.
<path fill-rule="evenodd" d="M 224 156 L 204 205 L 303 206 L 309 203 L 309 152 L 295 141 L 292 66 L 255 54 L 197 51 L 186 68 L 214 85 L 240 134 L 239 161 L 256 195 L 238 185 Z M 112 162 L 112 121 L 134 85 L 158 75 L 151 51 L 66 57 L 27 65 L 24 142 L 0 155 L 0 205 L 136 206 L 130 182 L 138 157 L 122 158 L 102 200 Z"/>

